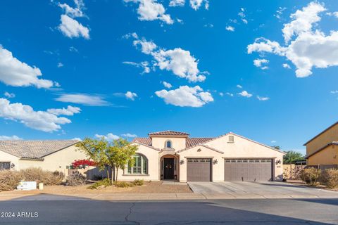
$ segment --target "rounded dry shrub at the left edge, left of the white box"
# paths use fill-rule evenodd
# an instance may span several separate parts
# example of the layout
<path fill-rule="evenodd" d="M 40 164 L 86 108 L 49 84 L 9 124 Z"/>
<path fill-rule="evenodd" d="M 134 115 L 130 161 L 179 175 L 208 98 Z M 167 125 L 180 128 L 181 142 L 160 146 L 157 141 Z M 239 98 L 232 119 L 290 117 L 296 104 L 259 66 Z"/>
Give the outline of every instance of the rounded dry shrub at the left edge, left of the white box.
<path fill-rule="evenodd" d="M 20 183 L 22 175 L 13 170 L 0 170 L 0 191 L 12 191 Z"/>

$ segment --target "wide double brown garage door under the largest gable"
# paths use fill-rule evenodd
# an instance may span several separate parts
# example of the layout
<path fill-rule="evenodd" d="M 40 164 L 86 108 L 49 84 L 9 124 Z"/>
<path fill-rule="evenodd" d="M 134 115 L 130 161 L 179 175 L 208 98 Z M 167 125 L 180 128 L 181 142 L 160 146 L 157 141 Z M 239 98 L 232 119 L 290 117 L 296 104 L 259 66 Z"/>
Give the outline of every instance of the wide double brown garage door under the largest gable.
<path fill-rule="evenodd" d="M 225 181 L 272 181 L 271 159 L 225 159 Z"/>

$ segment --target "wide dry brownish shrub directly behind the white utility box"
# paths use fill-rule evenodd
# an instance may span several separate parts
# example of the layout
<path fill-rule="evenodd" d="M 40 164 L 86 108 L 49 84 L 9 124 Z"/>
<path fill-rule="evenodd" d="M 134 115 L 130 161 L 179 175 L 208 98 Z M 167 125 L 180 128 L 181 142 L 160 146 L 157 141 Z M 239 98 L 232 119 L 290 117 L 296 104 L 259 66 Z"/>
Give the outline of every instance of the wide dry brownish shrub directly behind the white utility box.
<path fill-rule="evenodd" d="M 25 181 L 37 181 L 37 184 L 44 183 L 47 186 L 61 184 L 65 178 L 63 172 L 51 172 L 37 167 L 21 169 L 20 174 L 22 174 Z"/>

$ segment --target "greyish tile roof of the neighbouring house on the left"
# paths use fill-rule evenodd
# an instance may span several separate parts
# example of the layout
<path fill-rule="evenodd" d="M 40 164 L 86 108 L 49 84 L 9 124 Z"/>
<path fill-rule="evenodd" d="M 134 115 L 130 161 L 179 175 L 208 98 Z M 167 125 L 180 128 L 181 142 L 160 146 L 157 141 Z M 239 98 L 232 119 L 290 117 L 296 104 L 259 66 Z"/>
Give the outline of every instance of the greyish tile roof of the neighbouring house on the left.
<path fill-rule="evenodd" d="M 19 158 L 42 159 L 58 150 L 73 146 L 75 140 L 44 140 L 44 141 L 0 141 L 0 150 Z"/>

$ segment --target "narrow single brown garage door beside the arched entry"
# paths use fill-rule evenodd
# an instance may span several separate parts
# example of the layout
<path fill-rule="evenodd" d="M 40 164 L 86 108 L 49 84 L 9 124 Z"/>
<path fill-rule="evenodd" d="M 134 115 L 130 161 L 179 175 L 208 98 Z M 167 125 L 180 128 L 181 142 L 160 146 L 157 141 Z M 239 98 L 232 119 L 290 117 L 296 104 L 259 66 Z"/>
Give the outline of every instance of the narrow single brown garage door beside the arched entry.
<path fill-rule="evenodd" d="M 187 159 L 187 181 L 211 181 L 211 159 Z"/>

